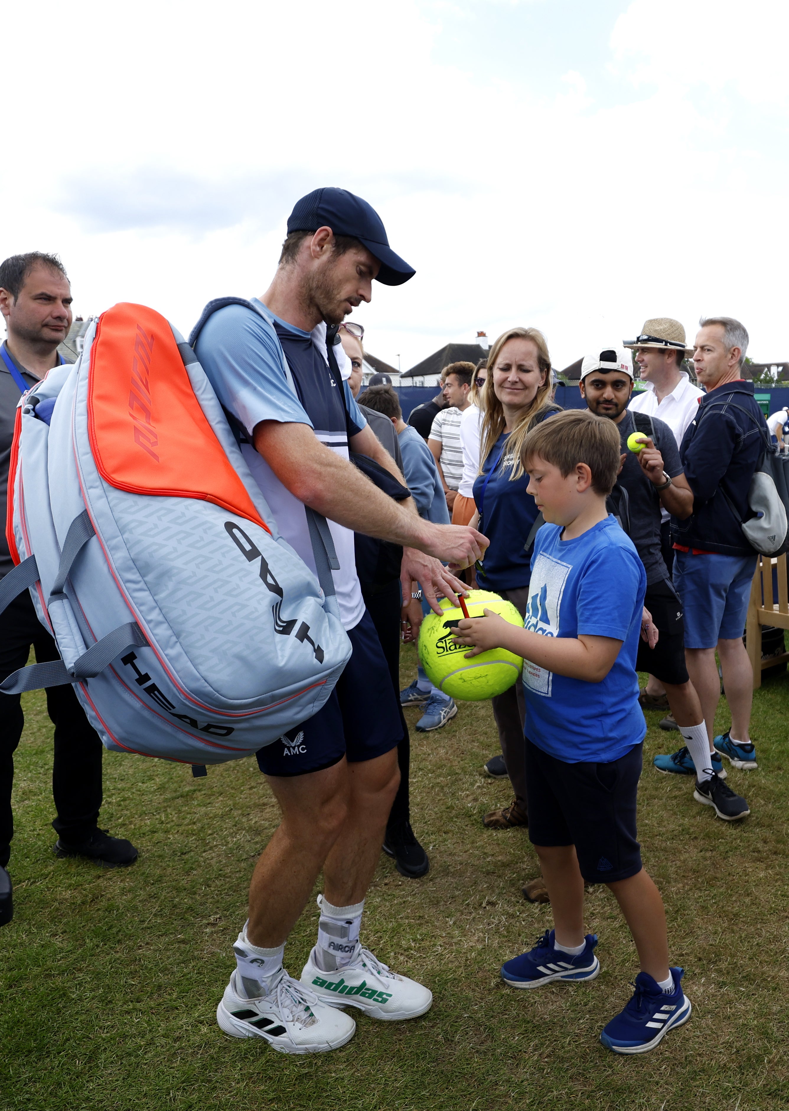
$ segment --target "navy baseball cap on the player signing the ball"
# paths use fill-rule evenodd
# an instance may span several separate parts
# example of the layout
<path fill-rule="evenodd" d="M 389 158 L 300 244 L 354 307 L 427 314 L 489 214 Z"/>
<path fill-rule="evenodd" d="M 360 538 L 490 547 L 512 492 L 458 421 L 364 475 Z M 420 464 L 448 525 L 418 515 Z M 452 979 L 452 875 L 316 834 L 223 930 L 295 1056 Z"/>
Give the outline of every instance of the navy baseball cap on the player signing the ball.
<path fill-rule="evenodd" d="M 389 246 L 383 222 L 373 207 L 347 189 L 316 189 L 296 202 L 288 217 L 288 234 L 319 228 L 331 228 L 336 236 L 358 239 L 381 263 L 378 281 L 384 286 L 402 286 L 417 272 Z"/>

